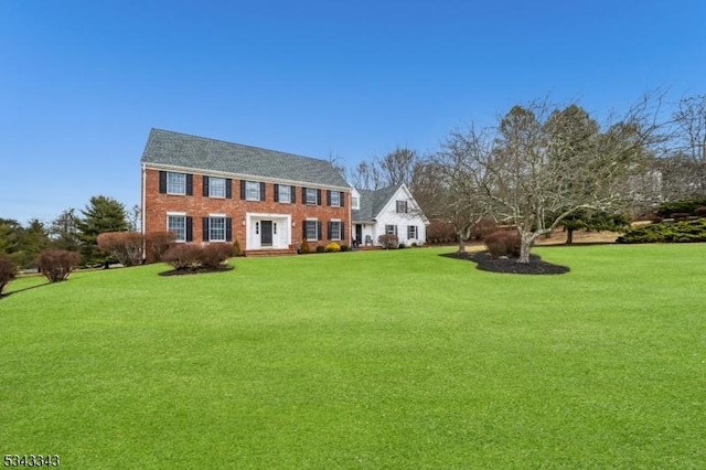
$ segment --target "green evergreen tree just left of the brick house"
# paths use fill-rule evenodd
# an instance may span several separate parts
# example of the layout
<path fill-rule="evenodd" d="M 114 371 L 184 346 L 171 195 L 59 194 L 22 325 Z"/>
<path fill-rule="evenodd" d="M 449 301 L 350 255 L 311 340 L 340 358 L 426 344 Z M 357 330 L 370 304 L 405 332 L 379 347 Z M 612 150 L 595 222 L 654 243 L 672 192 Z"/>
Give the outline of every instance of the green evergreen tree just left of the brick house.
<path fill-rule="evenodd" d="M 126 232 L 128 229 L 125 206 L 104 195 L 90 197 L 86 209 L 81 211 L 83 218 L 76 221 L 82 242 L 81 256 L 84 265 L 104 264 L 109 256 L 98 249 L 96 239 L 106 232 Z"/>

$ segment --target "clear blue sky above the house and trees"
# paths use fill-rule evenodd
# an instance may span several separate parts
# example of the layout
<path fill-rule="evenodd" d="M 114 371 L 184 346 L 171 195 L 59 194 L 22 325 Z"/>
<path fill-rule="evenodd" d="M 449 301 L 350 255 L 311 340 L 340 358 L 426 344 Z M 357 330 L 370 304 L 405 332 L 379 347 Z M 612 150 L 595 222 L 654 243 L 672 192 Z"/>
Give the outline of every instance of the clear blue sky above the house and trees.
<path fill-rule="evenodd" d="M 131 207 L 150 128 L 335 156 L 434 151 L 547 95 L 706 93 L 702 0 L 0 0 L 0 217 Z"/>

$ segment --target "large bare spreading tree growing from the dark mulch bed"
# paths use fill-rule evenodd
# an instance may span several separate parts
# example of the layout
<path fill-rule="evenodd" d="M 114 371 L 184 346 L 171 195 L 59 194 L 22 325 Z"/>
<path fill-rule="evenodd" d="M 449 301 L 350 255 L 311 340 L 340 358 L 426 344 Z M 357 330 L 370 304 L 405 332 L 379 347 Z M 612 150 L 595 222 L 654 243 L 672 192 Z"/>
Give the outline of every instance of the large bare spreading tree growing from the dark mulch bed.
<path fill-rule="evenodd" d="M 640 193 L 631 175 L 644 171 L 657 129 L 652 104 L 645 96 L 602 132 L 575 105 L 515 106 L 490 131 L 492 138 L 451 133 L 441 153 L 462 156 L 457 174 L 464 183 L 449 191 L 456 201 L 472 203 L 473 214 L 513 224 L 521 238 L 518 261 L 528 263 L 534 241 L 568 215 L 617 210 Z M 459 164 L 452 159 L 445 167 L 453 174 Z"/>

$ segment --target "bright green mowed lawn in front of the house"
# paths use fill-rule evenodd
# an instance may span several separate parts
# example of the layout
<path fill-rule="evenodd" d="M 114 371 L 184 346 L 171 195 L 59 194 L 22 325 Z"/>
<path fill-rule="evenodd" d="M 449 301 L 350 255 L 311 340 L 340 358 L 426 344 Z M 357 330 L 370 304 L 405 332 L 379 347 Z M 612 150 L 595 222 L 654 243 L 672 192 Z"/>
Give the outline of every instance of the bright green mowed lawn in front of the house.
<path fill-rule="evenodd" d="M 13 281 L 0 451 L 68 468 L 706 467 L 706 245 Z"/>

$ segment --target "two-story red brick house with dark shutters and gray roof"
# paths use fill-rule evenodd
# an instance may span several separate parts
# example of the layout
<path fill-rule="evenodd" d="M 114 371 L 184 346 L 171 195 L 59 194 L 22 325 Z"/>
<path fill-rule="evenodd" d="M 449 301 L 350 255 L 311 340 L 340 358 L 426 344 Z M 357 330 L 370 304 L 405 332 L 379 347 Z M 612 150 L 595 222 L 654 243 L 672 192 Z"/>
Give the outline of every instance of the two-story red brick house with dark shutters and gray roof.
<path fill-rule="evenodd" d="M 351 244 L 351 188 L 325 160 L 152 129 L 141 163 L 145 234 L 248 254 Z"/>

